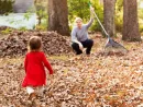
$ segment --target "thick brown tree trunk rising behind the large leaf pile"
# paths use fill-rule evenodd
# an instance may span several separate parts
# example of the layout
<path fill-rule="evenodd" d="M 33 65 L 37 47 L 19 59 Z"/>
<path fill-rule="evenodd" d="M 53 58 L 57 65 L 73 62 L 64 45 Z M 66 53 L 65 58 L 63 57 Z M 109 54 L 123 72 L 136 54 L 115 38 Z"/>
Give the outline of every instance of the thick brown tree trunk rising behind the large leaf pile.
<path fill-rule="evenodd" d="M 48 31 L 69 35 L 67 0 L 48 0 Z"/>

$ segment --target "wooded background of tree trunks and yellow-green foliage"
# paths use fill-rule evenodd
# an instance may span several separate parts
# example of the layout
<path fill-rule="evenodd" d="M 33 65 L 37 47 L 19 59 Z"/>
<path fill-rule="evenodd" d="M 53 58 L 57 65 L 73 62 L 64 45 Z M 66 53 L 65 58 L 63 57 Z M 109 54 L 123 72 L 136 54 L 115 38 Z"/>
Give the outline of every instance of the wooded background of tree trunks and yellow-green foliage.
<path fill-rule="evenodd" d="M 33 0 L 32 0 L 33 1 Z M 122 33 L 123 40 L 141 40 L 143 0 L 90 0 L 110 36 Z M 90 19 L 88 0 L 34 0 L 40 29 L 69 35 L 76 16 Z M 0 0 L 0 14 L 12 12 L 14 1 Z M 90 31 L 101 32 L 97 20 Z"/>

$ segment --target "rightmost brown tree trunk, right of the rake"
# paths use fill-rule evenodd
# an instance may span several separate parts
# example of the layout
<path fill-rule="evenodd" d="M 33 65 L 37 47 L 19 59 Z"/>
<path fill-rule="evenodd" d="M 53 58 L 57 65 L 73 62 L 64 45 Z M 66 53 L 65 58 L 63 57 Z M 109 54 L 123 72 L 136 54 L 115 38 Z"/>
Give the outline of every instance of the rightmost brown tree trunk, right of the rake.
<path fill-rule="evenodd" d="M 138 1 L 123 0 L 123 40 L 141 40 L 138 23 Z"/>

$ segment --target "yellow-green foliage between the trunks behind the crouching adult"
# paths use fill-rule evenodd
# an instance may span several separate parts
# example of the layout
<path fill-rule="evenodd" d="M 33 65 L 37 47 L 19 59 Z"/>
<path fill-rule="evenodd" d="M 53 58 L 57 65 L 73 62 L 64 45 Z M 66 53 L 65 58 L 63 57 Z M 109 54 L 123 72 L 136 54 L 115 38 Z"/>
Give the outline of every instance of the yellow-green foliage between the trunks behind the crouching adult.
<path fill-rule="evenodd" d="M 69 19 L 69 28 L 72 29 L 74 25 L 74 21 L 77 16 L 81 17 L 84 23 L 88 23 L 90 20 L 90 10 L 89 10 L 89 4 L 88 0 L 68 0 L 68 19 Z M 103 8 L 99 3 L 99 1 L 95 0 L 91 2 L 92 7 L 95 8 L 95 11 L 101 22 L 103 21 Z M 90 31 L 100 31 L 100 26 L 95 20 L 92 26 L 90 27 Z"/>

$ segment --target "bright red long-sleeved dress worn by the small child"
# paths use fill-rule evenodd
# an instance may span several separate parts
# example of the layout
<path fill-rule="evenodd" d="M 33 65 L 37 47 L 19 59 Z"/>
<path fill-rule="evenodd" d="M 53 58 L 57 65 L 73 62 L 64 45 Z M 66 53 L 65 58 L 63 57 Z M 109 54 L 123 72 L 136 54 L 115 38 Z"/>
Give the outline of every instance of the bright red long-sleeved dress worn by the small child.
<path fill-rule="evenodd" d="M 31 51 L 26 54 L 24 60 L 25 78 L 22 83 L 23 87 L 26 86 L 43 86 L 46 84 L 46 72 L 44 67 L 48 69 L 50 74 L 53 74 L 53 70 L 44 52 Z"/>

